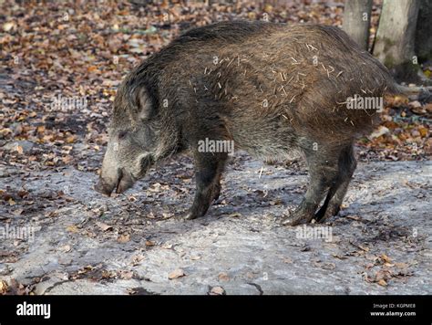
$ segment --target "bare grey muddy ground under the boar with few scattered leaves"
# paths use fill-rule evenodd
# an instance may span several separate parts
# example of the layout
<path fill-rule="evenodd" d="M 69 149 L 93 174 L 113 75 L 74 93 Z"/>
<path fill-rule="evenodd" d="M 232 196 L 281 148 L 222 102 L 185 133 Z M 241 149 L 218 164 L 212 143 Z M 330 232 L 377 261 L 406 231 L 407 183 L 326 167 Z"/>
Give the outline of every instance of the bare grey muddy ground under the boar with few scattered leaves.
<path fill-rule="evenodd" d="M 208 215 L 185 221 L 192 166 L 108 198 L 96 173 L 0 165 L 0 278 L 38 295 L 432 293 L 431 162 L 359 163 L 341 215 L 306 228 L 280 225 L 305 191 L 301 160 L 237 155 Z"/>

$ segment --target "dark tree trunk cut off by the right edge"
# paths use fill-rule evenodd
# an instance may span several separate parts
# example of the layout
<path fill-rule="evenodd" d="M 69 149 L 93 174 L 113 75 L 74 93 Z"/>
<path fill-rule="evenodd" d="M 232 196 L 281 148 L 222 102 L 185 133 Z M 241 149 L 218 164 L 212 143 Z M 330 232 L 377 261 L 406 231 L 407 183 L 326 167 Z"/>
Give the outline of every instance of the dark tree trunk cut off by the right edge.
<path fill-rule="evenodd" d="M 421 62 L 432 61 L 432 1 L 421 0 L 417 18 L 415 49 Z"/>

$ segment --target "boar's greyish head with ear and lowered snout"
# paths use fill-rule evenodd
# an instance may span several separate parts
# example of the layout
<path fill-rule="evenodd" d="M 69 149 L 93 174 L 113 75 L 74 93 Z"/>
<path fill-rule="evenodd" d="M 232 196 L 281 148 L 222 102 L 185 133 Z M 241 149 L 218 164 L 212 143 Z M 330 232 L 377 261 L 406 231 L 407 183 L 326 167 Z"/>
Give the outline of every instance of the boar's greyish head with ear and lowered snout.
<path fill-rule="evenodd" d="M 123 193 L 165 155 L 156 106 L 145 86 L 131 86 L 125 80 L 119 87 L 96 191 Z"/>

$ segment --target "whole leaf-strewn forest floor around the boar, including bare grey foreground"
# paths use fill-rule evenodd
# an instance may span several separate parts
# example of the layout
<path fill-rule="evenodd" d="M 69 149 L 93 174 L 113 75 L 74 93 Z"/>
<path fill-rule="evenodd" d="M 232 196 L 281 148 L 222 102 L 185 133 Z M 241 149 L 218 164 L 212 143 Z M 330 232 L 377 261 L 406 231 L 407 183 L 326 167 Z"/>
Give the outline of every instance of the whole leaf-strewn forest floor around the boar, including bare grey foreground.
<path fill-rule="evenodd" d="M 280 225 L 305 191 L 301 159 L 269 165 L 239 152 L 221 198 L 194 221 L 179 216 L 194 194 L 188 157 L 126 194 L 92 190 L 116 89 L 142 59 L 220 20 L 340 26 L 341 3 L 1 9 L 0 294 L 431 294 L 427 92 L 387 99 L 379 128 L 356 144 L 345 208 L 324 225 Z M 375 3 L 371 40 L 379 12 Z M 311 229 L 326 236 L 303 238 Z"/>

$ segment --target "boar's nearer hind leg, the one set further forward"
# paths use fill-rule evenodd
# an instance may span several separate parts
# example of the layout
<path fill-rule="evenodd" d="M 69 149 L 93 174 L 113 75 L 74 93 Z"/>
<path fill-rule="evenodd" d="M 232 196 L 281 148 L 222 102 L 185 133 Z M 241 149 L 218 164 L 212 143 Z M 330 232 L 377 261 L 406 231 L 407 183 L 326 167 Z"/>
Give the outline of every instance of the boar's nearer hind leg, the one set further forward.
<path fill-rule="evenodd" d="M 324 195 L 332 186 L 336 185 L 338 187 L 337 183 L 340 183 L 338 180 L 340 150 L 324 148 L 324 145 L 320 148 L 321 150 L 318 151 L 304 150 L 309 169 L 309 186 L 302 203 L 295 209 L 293 214 L 283 221 L 283 225 L 299 225 L 311 222 L 318 205 L 324 199 Z"/>

